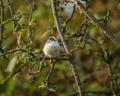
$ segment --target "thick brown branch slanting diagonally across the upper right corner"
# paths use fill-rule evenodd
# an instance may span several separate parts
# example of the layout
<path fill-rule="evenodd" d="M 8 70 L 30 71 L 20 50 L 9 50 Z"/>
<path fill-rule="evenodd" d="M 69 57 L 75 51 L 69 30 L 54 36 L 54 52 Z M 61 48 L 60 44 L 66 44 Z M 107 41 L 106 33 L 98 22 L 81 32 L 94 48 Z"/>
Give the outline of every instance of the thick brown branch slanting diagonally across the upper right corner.
<path fill-rule="evenodd" d="M 108 32 L 108 30 L 99 23 L 99 21 L 93 16 L 93 14 L 88 11 L 86 7 L 83 6 L 83 4 L 78 0 L 70 0 L 71 2 L 74 2 L 85 15 L 88 16 L 88 18 L 98 27 L 101 29 L 101 31 L 104 33 L 105 36 L 110 38 L 116 45 L 120 46 L 120 40 L 118 40 L 111 32 Z"/>

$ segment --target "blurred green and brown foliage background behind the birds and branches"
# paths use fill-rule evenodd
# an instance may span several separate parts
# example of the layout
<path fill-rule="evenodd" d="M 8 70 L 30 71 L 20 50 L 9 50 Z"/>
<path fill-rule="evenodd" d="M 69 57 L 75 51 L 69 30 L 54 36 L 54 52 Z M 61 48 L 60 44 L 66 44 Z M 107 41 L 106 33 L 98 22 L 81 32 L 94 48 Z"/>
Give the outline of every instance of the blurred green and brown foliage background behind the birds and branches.
<path fill-rule="evenodd" d="M 1 0 L 0 0 L 1 1 Z M 50 0 L 2 0 L 4 8 L 3 39 L 0 54 L 16 48 L 24 49 L 0 56 L 0 96 L 77 96 L 77 88 L 68 62 L 57 61 L 50 83 L 56 92 L 44 86 L 51 64 L 44 62 L 44 69 L 34 78 L 42 60 L 42 48 L 51 35 L 59 40 L 51 11 Z M 117 83 L 120 95 L 120 48 L 105 37 L 76 7 L 67 26 L 64 15 L 65 0 L 58 1 L 58 13 L 65 39 L 74 54 L 81 76 L 85 96 L 111 95 L 111 78 Z M 120 40 L 120 0 L 90 0 L 93 15 Z M 10 4 L 9 4 L 10 3 Z M 1 5 L 1 4 L 0 4 Z M 0 9 L 2 7 L 0 6 Z M 31 16 L 31 17 L 30 17 Z M 2 18 L 2 11 L 0 12 Z M 87 26 L 85 26 L 87 25 Z M 2 29 L 2 27 L 1 27 Z M 0 30 L 1 30 L 0 29 Z M 61 41 L 59 40 L 60 44 Z M 65 52 L 61 44 L 61 56 Z M 111 69 L 109 69 L 109 67 Z M 112 77 L 110 76 L 112 71 Z M 98 93 L 97 93 L 98 92 Z M 92 94 L 94 93 L 94 94 Z"/>

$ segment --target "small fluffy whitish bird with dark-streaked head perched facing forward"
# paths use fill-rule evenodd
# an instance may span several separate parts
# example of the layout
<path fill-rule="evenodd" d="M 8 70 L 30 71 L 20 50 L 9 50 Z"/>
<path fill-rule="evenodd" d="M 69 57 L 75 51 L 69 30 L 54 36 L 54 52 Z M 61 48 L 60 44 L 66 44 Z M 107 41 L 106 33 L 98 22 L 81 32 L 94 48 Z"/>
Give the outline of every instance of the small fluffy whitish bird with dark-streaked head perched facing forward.
<path fill-rule="evenodd" d="M 54 36 L 48 38 L 43 48 L 46 57 L 54 58 L 60 54 L 60 45 Z"/>

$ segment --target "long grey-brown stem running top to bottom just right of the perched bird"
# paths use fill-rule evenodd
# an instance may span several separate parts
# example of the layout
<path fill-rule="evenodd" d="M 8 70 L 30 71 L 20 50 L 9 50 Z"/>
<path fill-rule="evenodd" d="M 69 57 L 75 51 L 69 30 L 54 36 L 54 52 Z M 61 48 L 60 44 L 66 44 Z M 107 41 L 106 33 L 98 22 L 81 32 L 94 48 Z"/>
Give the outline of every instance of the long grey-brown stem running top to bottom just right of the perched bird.
<path fill-rule="evenodd" d="M 53 17 L 54 17 L 54 20 L 55 20 L 55 25 L 57 27 L 57 31 L 58 31 L 58 34 L 59 34 L 60 39 L 62 41 L 62 44 L 64 46 L 66 54 L 70 54 L 70 51 L 68 49 L 68 45 L 67 45 L 67 43 L 66 43 L 66 41 L 64 39 L 64 35 L 63 35 L 62 31 L 61 31 L 60 21 L 59 21 L 59 18 L 58 18 L 57 9 L 56 9 L 56 2 L 55 1 L 56 0 L 51 0 L 51 6 L 52 6 Z M 74 75 L 74 78 L 75 78 L 75 81 L 76 81 L 76 84 L 77 84 L 77 87 L 78 87 L 79 95 L 83 96 L 83 91 L 82 91 L 80 77 L 79 77 L 78 72 L 76 70 L 75 61 L 73 59 L 74 58 L 69 60 L 69 62 L 70 62 L 69 66 L 71 67 L 71 71 L 72 71 L 72 73 Z"/>

